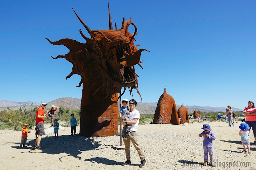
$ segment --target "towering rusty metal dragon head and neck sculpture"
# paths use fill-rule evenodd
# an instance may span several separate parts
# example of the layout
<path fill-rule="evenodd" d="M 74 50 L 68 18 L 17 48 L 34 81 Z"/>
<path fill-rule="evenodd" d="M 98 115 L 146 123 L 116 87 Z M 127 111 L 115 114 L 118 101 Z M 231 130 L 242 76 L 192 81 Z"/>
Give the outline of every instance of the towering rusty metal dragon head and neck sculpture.
<path fill-rule="evenodd" d="M 134 65 L 142 63 L 140 55 L 146 49 L 137 49 L 139 44 L 134 45 L 137 28 L 131 18 L 129 21 L 123 19 L 121 29 L 116 26 L 116 30 L 113 30 L 109 6 L 108 14 L 109 30 L 90 30 L 76 14 L 90 34 L 90 38 L 86 37 L 80 30 L 86 43 L 68 38 L 52 42 L 46 38 L 51 44 L 64 45 L 70 50 L 66 55 L 52 57 L 64 58 L 72 63 L 72 71 L 66 79 L 74 74 L 81 76 L 77 87 L 83 84 L 80 118 L 82 136 L 115 135 L 118 130 L 119 112 L 116 101 L 121 88 L 124 87 L 125 91 L 128 87 L 130 94 L 132 89 L 136 89 L 140 95 Z M 133 34 L 128 32 L 130 25 L 135 28 Z"/>

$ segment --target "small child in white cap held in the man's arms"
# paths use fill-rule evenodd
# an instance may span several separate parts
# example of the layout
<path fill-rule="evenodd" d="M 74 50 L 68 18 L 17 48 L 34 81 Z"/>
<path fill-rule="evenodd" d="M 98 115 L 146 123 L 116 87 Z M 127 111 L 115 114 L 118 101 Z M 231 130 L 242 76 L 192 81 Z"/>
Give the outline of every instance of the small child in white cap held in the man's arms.
<path fill-rule="evenodd" d="M 121 119 L 123 119 L 124 121 L 128 121 L 128 118 L 129 118 L 129 108 L 128 108 L 128 100 L 127 99 L 124 99 L 122 100 L 122 107 L 120 107 L 120 110 L 119 110 L 119 116 Z M 123 130 L 122 130 L 122 138 L 124 138 L 124 140 L 127 140 L 127 138 L 125 137 L 125 135 L 127 134 L 130 138 L 132 138 L 132 134 L 130 133 L 131 131 L 131 126 L 132 125 L 128 125 L 126 124 L 124 127 L 123 127 Z"/>

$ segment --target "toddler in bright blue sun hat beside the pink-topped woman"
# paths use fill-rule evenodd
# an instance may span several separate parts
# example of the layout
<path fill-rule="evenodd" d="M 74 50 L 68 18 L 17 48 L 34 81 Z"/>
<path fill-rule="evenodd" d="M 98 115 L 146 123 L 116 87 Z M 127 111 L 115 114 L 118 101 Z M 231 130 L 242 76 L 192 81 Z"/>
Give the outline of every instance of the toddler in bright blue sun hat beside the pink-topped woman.
<path fill-rule="evenodd" d="M 250 140 L 249 140 L 249 125 L 247 123 L 241 123 L 240 127 L 239 127 L 241 130 L 239 131 L 239 135 L 241 136 L 241 142 L 242 142 L 242 145 L 244 146 L 244 150 L 243 152 L 246 152 L 246 147 L 247 146 L 247 149 L 248 149 L 248 154 L 251 154 L 250 152 Z"/>

